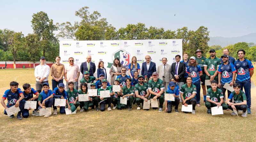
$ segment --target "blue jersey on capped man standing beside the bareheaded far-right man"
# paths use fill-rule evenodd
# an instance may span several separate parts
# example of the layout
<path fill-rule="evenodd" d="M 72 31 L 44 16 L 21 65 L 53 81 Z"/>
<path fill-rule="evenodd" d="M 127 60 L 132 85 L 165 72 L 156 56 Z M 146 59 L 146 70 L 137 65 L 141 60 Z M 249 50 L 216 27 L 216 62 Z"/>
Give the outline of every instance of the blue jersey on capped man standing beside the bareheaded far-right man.
<path fill-rule="evenodd" d="M 227 65 L 220 64 L 218 73 L 221 74 L 220 83 L 224 85 L 225 83 L 230 83 L 233 78 L 233 73 L 236 72 L 236 67 L 234 64 L 228 62 Z"/>

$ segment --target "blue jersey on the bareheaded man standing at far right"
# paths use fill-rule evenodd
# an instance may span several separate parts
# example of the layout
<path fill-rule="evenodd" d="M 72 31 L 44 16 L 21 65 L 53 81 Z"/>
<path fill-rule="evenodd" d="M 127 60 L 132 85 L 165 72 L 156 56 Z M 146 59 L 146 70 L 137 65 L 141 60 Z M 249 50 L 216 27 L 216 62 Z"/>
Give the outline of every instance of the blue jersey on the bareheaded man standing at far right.
<path fill-rule="evenodd" d="M 237 71 L 236 82 L 251 82 L 250 70 L 254 69 L 252 62 L 244 58 L 243 61 L 239 59 L 235 62 Z"/>

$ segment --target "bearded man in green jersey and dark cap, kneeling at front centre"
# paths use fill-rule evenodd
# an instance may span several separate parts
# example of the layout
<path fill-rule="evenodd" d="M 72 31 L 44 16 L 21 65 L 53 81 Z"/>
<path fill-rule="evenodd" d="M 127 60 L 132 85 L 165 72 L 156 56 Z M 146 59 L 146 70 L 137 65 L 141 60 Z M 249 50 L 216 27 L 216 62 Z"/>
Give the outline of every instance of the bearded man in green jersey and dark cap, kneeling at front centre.
<path fill-rule="evenodd" d="M 136 103 L 138 105 L 137 110 L 140 110 L 140 103 L 146 101 L 148 102 L 148 84 L 144 82 L 144 76 L 140 75 L 138 77 L 139 83 L 135 84 L 134 86 L 134 93 L 136 96 Z"/>

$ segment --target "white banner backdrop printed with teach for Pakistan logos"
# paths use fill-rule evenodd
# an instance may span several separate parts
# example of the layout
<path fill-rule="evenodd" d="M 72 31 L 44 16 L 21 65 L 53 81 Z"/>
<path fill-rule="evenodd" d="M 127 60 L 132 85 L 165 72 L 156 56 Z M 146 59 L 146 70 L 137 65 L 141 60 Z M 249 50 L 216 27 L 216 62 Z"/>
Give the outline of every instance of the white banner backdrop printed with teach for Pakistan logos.
<path fill-rule="evenodd" d="M 91 55 L 92 62 L 96 65 L 95 77 L 99 61 L 104 62 L 104 67 L 109 73 L 116 57 L 128 68 L 132 56 L 137 57 L 137 62 L 142 67 L 142 63 L 146 61 L 145 56 L 149 55 L 157 68 L 162 64 L 163 57 L 167 58 L 168 64 L 172 64 L 177 54 L 182 59 L 182 39 L 60 41 L 60 62 L 66 67 L 69 65 L 68 58 L 73 57 L 75 64 L 80 67 L 81 63 L 86 61 L 87 55 Z M 79 80 L 81 78 L 82 74 Z"/>

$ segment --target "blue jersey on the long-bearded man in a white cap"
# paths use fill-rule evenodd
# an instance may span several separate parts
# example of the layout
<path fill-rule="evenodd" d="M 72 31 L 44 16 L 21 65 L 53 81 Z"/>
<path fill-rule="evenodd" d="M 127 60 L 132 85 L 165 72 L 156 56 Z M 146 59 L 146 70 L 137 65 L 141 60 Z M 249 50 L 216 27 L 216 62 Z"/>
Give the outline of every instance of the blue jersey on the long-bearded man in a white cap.
<path fill-rule="evenodd" d="M 200 83 L 200 73 L 202 73 L 202 69 L 199 65 L 188 66 L 187 73 L 192 77 L 192 83 Z"/>

